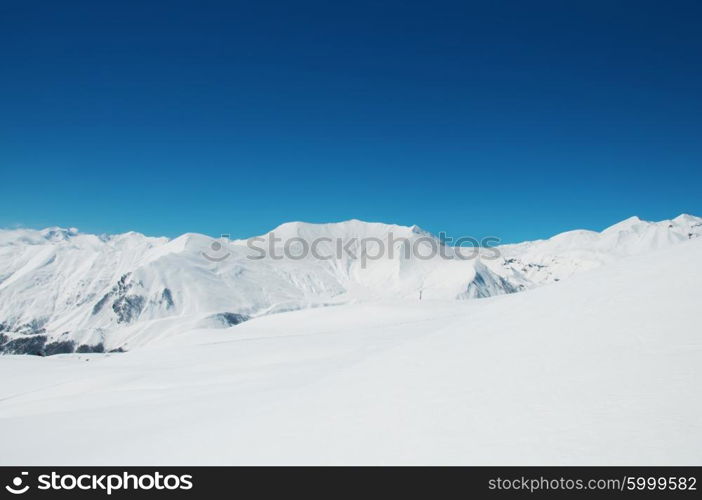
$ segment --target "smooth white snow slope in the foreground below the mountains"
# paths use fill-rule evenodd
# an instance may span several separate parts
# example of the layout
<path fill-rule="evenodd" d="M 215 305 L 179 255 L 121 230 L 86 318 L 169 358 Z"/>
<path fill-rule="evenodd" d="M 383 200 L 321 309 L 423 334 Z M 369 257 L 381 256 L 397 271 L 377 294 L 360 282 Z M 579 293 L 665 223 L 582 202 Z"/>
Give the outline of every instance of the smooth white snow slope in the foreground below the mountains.
<path fill-rule="evenodd" d="M 0 463 L 697 465 L 701 255 L 3 356 Z"/>

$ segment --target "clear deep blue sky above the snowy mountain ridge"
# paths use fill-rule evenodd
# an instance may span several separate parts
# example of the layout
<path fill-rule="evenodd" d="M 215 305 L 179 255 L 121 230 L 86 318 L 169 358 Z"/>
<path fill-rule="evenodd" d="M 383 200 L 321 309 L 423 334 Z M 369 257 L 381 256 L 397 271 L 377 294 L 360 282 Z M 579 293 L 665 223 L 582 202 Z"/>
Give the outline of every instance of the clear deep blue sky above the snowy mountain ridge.
<path fill-rule="evenodd" d="M 0 226 L 702 214 L 702 3 L 0 4 Z"/>

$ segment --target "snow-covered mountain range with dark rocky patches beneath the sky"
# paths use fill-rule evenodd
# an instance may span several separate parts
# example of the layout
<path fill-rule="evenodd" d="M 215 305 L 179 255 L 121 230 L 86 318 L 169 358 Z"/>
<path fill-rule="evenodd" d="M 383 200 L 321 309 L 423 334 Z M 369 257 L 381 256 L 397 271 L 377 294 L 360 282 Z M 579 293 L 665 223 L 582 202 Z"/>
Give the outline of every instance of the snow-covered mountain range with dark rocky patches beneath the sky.
<path fill-rule="evenodd" d="M 0 352 L 129 350 L 288 310 L 389 297 L 489 297 L 700 235 L 698 217 L 631 218 L 601 233 L 570 231 L 498 247 L 498 258 L 490 250 L 465 259 L 465 251 L 416 226 L 357 220 L 288 223 L 232 242 L 200 234 L 170 240 L 133 232 L 2 230 Z M 293 258 L 313 243 L 316 256 Z M 278 258 L 286 249 L 293 257 Z"/>

